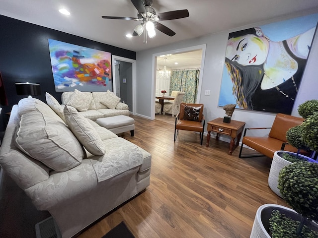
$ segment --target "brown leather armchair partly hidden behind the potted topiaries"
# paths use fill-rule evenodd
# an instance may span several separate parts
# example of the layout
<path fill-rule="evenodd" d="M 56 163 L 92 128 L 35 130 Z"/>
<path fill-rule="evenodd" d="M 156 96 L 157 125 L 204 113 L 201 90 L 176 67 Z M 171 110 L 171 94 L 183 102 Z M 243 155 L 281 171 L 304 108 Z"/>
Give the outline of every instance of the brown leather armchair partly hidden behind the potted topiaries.
<path fill-rule="evenodd" d="M 239 158 L 267 156 L 273 158 L 275 151 L 286 150 L 297 152 L 297 149 L 288 144 L 286 132 L 289 128 L 303 123 L 303 118 L 298 118 L 285 114 L 277 114 L 272 127 L 245 128 L 241 147 L 239 150 Z M 268 136 L 246 136 L 247 130 L 270 129 Z M 243 144 L 258 151 L 261 154 L 243 156 Z M 305 151 L 304 151 L 305 152 Z M 306 153 L 306 152 L 305 152 Z"/>

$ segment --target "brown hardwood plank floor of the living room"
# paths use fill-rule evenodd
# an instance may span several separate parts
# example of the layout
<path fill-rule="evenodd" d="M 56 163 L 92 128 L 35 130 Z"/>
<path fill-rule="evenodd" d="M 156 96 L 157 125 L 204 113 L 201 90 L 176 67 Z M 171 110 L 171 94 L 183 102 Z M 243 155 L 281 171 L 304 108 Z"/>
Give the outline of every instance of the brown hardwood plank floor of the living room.
<path fill-rule="evenodd" d="M 205 136 L 201 146 L 199 134 L 190 131 L 179 131 L 174 143 L 174 118 L 160 116 L 132 116 L 135 136 L 119 135 L 152 154 L 150 186 L 79 238 L 101 238 L 121 221 L 136 238 L 249 238 L 260 205 L 287 206 L 268 187 L 271 159 L 239 159 L 239 147 L 230 156 L 229 143 L 213 138 L 207 148 Z M 48 214 L 15 190 L 1 199 L 0 237 L 35 237 L 34 225 Z"/>

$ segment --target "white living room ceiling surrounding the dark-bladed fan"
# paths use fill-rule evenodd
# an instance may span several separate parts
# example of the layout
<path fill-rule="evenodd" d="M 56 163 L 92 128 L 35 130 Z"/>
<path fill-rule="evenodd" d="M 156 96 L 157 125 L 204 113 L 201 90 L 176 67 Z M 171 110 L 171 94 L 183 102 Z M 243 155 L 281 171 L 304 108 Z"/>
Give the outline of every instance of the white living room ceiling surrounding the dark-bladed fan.
<path fill-rule="evenodd" d="M 71 15 L 59 13 L 62 7 Z M 153 0 L 153 7 L 157 13 L 188 9 L 190 16 L 160 21 L 176 34 L 157 31 L 146 45 L 142 36 L 125 37 L 140 22 L 101 18 L 137 17 L 131 0 L 0 0 L 1 15 L 136 52 L 291 13 L 318 12 L 318 0 Z"/>

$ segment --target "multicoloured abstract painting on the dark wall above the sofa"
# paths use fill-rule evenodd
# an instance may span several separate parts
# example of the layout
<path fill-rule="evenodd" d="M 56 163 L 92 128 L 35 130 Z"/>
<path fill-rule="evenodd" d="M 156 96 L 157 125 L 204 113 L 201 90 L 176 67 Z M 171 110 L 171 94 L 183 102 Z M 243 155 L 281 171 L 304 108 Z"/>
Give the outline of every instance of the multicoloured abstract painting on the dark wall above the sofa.
<path fill-rule="evenodd" d="M 111 54 L 48 39 L 56 92 L 112 91 Z"/>

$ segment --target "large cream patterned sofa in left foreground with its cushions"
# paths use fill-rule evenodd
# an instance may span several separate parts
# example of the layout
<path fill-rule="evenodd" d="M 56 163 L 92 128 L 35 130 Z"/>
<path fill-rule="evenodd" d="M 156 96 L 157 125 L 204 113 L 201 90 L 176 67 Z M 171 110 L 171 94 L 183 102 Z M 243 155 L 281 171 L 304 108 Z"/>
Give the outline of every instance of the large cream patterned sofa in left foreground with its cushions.
<path fill-rule="evenodd" d="M 151 154 L 52 101 L 54 110 L 35 98 L 13 106 L 0 165 L 70 238 L 145 190 Z"/>

